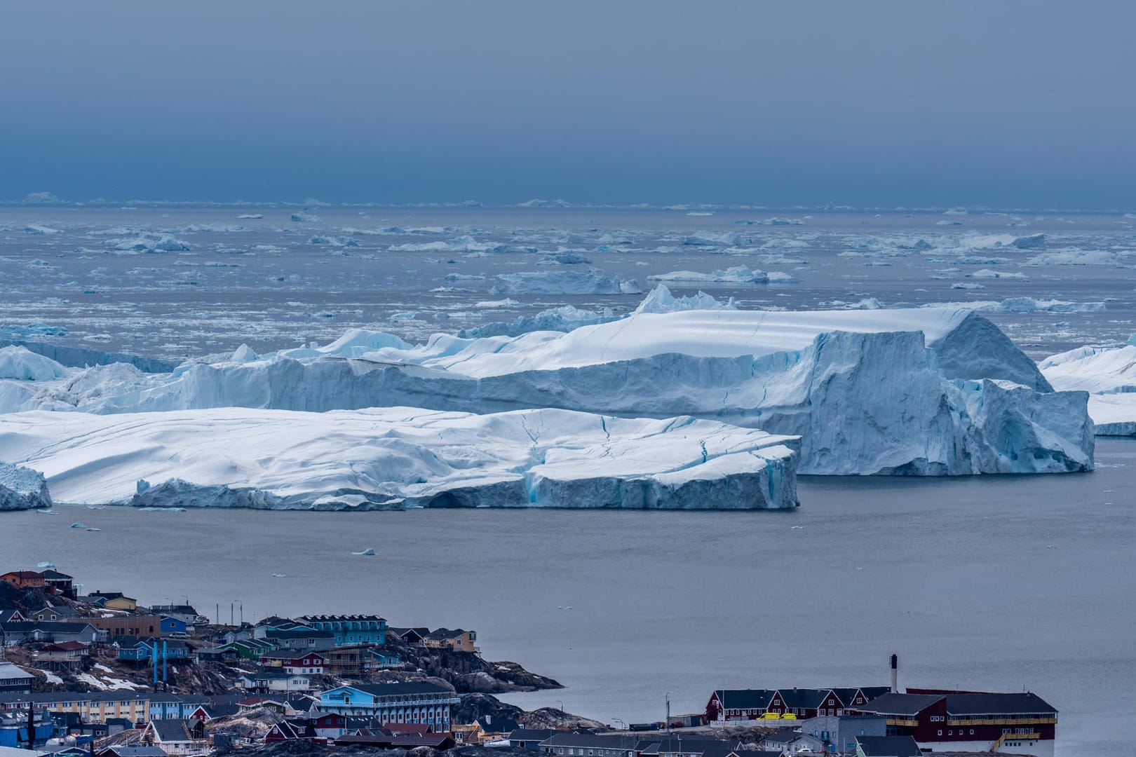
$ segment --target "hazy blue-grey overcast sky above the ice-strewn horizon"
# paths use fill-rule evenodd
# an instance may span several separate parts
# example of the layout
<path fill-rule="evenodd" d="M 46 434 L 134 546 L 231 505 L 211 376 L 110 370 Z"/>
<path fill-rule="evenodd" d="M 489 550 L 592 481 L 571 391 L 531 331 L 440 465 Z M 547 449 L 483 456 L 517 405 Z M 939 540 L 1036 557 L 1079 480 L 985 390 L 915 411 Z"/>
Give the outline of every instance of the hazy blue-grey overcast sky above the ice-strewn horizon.
<path fill-rule="evenodd" d="M 0 201 L 1133 210 L 1133 28 L 1108 0 L 12 0 Z"/>

